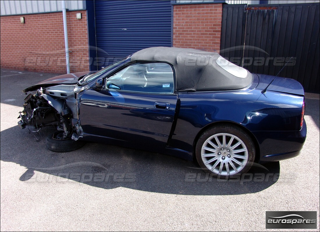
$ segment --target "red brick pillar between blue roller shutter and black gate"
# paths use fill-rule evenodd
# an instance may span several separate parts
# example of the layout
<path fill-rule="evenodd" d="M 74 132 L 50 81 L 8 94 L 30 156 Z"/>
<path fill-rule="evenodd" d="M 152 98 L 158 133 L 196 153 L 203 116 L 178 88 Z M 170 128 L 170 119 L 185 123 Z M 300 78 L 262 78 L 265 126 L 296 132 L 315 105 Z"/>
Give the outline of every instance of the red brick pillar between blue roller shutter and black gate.
<path fill-rule="evenodd" d="M 222 4 L 173 6 L 173 47 L 220 50 Z"/>

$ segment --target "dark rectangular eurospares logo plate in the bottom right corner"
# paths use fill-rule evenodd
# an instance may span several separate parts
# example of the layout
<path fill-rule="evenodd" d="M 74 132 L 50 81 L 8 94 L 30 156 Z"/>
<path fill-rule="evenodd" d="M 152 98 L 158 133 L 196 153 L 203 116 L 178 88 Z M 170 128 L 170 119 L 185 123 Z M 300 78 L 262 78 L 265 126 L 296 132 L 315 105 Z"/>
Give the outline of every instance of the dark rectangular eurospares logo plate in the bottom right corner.
<path fill-rule="evenodd" d="M 316 211 L 266 211 L 266 229 L 316 228 Z"/>

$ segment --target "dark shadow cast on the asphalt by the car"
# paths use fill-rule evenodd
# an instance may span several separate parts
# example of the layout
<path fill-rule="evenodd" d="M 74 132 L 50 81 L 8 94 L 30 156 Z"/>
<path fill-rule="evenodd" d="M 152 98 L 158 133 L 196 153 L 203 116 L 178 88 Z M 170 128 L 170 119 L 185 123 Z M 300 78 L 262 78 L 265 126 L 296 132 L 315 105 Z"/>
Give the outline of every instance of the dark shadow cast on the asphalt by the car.
<path fill-rule="evenodd" d="M 18 126 L 1 131 L 1 160 L 26 167 L 20 181 L 70 182 L 168 194 L 235 195 L 262 191 L 279 178 L 279 162 L 256 164 L 248 173 L 225 180 L 206 174 L 192 161 L 100 143 L 55 153 L 45 145 L 51 131 L 43 129 L 40 137 Z M 41 139 L 37 142 L 36 138 Z"/>

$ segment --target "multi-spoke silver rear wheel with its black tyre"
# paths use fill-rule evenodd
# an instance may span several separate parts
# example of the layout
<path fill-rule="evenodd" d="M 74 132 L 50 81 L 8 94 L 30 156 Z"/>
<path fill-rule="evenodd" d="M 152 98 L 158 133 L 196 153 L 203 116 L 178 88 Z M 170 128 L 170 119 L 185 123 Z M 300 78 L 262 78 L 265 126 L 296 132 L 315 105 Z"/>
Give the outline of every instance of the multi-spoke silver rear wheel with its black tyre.
<path fill-rule="evenodd" d="M 222 124 L 205 131 L 196 145 L 201 168 L 218 176 L 247 172 L 254 161 L 255 147 L 250 136 L 236 126 Z"/>

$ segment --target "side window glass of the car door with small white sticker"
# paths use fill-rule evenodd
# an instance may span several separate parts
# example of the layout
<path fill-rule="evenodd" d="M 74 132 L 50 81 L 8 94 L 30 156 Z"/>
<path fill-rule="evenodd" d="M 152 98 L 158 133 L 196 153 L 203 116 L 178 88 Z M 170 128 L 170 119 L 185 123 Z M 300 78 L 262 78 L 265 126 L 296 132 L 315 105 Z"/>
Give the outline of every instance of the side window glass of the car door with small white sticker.
<path fill-rule="evenodd" d="M 107 79 L 107 88 L 142 93 L 174 92 L 173 71 L 166 63 L 132 64 Z"/>

